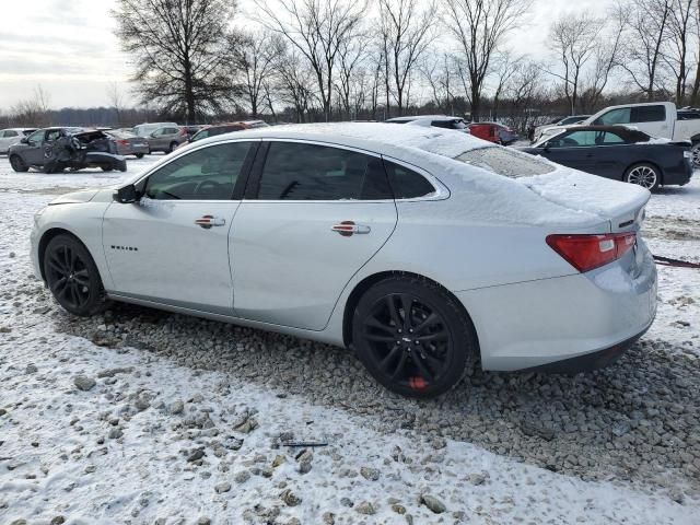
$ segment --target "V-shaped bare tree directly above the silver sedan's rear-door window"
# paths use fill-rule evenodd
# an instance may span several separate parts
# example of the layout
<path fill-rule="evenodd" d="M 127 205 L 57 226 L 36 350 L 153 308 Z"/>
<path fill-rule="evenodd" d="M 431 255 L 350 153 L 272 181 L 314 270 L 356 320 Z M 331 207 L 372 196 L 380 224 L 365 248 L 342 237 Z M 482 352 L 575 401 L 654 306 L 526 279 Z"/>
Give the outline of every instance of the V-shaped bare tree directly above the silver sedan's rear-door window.
<path fill-rule="evenodd" d="M 324 117 L 330 120 L 338 52 L 360 34 L 364 3 L 351 0 L 254 2 L 260 13 L 260 23 L 284 36 L 311 66 Z"/>

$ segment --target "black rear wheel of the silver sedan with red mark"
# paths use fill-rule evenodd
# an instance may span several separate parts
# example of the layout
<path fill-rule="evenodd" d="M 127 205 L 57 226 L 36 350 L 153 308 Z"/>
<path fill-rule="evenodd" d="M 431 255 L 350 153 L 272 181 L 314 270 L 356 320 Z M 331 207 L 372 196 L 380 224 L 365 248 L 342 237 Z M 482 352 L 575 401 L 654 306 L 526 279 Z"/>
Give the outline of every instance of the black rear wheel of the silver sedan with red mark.
<path fill-rule="evenodd" d="M 352 343 L 377 382 L 423 399 L 457 385 L 478 354 L 474 326 L 457 301 L 418 277 L 390 277 L 364 292 L 353 313 Z"/>

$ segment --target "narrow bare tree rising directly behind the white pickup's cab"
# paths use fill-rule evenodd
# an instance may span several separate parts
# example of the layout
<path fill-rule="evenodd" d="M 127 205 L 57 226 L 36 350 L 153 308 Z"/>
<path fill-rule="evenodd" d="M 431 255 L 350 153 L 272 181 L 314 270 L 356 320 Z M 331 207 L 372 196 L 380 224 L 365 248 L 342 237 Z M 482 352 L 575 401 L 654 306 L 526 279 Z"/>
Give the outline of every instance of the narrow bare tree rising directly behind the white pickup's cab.
<path fill-rule="evenodd" d="M 662 85 L 662 51 L 668 39 L 673 1 L 631 0 L 629 4 L 628 46 L 621 66 L 650 101 Z"/>

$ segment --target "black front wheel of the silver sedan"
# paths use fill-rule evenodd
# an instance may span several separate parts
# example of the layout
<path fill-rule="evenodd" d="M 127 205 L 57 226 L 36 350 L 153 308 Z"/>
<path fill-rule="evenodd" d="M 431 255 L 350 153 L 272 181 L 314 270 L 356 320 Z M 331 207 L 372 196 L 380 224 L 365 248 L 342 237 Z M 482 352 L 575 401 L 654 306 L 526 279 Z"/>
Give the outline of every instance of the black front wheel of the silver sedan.
<path fill-rule="evenodd" d="M 100 271 L 88 248 L 71 235 L 51 238 L 44 252 L 44 276 L 54 299 L 73 315 L 89 317 L 104 305 Z"/>

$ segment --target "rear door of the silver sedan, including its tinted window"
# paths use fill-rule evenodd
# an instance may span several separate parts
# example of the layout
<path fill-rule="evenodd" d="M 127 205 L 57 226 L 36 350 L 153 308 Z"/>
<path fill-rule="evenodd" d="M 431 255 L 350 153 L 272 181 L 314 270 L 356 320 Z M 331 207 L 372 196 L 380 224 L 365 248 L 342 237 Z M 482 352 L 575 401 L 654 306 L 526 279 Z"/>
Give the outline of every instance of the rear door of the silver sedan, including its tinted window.
<path fill-rule="evenodd" d="M 304 141 L 260 150 L 231 232 L 235 315 L 322 330 L 396 225 L 378 155 Z"/>

